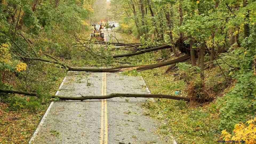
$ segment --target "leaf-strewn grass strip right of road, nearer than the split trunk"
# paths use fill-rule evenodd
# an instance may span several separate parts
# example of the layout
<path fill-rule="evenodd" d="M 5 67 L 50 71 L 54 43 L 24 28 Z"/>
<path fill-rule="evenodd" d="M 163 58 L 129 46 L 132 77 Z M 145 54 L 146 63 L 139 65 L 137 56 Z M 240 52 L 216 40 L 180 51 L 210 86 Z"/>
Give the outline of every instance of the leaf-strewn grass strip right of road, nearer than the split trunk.
<path fill-rule="evenodd" d="M 183 80 L 175 80 L 171 74 L 161 74 L 167 67 L 143 71 L 141 75 L 151 93 L 174 94 L 181 90 L 186 96 L 187 85 Z M 218 111 L 215 102 L 203 106 L 171 99 L 155 99 L 143 105 L 145 115 L 161 121 L 158 133 L 175 137 L 181 144 L 216 143 L 219 138 Z"/>

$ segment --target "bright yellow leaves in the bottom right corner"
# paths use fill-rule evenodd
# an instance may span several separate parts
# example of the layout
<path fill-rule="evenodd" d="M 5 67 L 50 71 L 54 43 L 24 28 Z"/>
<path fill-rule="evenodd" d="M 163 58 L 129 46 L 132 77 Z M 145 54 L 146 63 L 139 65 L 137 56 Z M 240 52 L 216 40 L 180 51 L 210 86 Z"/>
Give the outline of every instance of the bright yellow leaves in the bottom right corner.
<path fill-rule="evenodd" d="M 239 123 L 235 125 L 234 135 L 232 136 L 226 130 L 221 132 L 222 138 L 225 141 L 245 141 L 246 144 L 256 143 L 256 117 L 244 123 Z M 231 137 L 232 136 L 232 137 Z"/>

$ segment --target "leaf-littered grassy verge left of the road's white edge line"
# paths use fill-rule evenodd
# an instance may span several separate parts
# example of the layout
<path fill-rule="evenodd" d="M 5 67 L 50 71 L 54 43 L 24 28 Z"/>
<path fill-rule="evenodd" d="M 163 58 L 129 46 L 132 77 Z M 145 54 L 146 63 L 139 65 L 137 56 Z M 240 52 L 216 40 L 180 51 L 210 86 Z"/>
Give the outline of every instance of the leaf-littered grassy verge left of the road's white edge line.
<path fill-rule="evenodd" d="M 10 75 L 5 83 L 9 83 L 9 85 L 16 83 L 13 87 L 18 90 L 33 91 L 37 89 L 54 95 L 65 77 L 65 71 L 60 71 L 54 65 L 41 63 L 27 67 L 26 72 L 22 75 L 26 76 L 15 77 Z M 25 82 L 22 78 L 26 78 L 28 81 Z M 29 102 L 30 97 L 15 97 L 12 94 L 9 94 L 8 97 L 10 97 L 9 103 L 0 103 L 0 143 L 27 143 L 49 103 L 29 107 L 23 103 L 22 99 Z M 13 99 L 18 99 L 18 101 L 12 103 Z"/>

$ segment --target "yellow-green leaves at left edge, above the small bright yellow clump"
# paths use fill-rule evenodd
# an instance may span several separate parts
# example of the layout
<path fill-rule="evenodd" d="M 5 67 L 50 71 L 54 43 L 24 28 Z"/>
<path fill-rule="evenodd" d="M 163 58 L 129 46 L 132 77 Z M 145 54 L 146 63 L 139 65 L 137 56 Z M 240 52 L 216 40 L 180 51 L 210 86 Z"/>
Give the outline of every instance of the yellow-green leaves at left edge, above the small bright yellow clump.
<path fill-rule="evenodd" d="M 0 62 L 12 64 L 10 54 L 10 43 L 2 43 L 0 45 Z"/>

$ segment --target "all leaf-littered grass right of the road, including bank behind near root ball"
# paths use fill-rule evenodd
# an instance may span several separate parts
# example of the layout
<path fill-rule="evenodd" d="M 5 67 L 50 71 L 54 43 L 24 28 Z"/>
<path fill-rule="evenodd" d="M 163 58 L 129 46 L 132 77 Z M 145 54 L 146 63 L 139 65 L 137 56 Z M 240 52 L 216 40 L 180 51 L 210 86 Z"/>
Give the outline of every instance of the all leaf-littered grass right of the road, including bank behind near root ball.
<path fill-rule="evenodd" d="M 134 65 L 146 65 L 157 63 L 156 59 L 162 58 L 163 54 L 168 56 L 170 52 L 162 50 L 145 53 L 139 56 L 123 58 L 123 61 L 130 61 Z M 175 57 L 167 59 L 175 59 Z M 189 70 L 186 64 L 189 64 L 189 62 L 184 63 L 183 69 L 177 68 L 168 74 L 165 71 L 169 66 L 141 72 L 125 71 L 123 74 L 141 75 L 152 94 L 174 95 L 174 92 L 179 90 L 181 91 L 180 96 L 187 96 L 190 81 L 197 81 L 194 78 L 200 76 L 198 76 L 199 73 L 193 74 L 194 71 Z M 223 78 L 218 77 L 220 73 L 221 70 L 217 66 L 205 70 L 205 86 L 209 87 L 209 92 L 215 98 L 213 102 L 199 104 L 156 98 L 155 102 L 149 101 L 144 103 L 142 107 L 145 108 L 145 115 L 160 122 L 157 133 L 169 137 L 170 141 L 174 137 L 177 143 L 180 144 L 217 143 L 221 131 L 219 131 L 218 127 L 220 115 L 216 99 L 233 88 L 232 83 L 215 84 L 223 81 Z"/>

